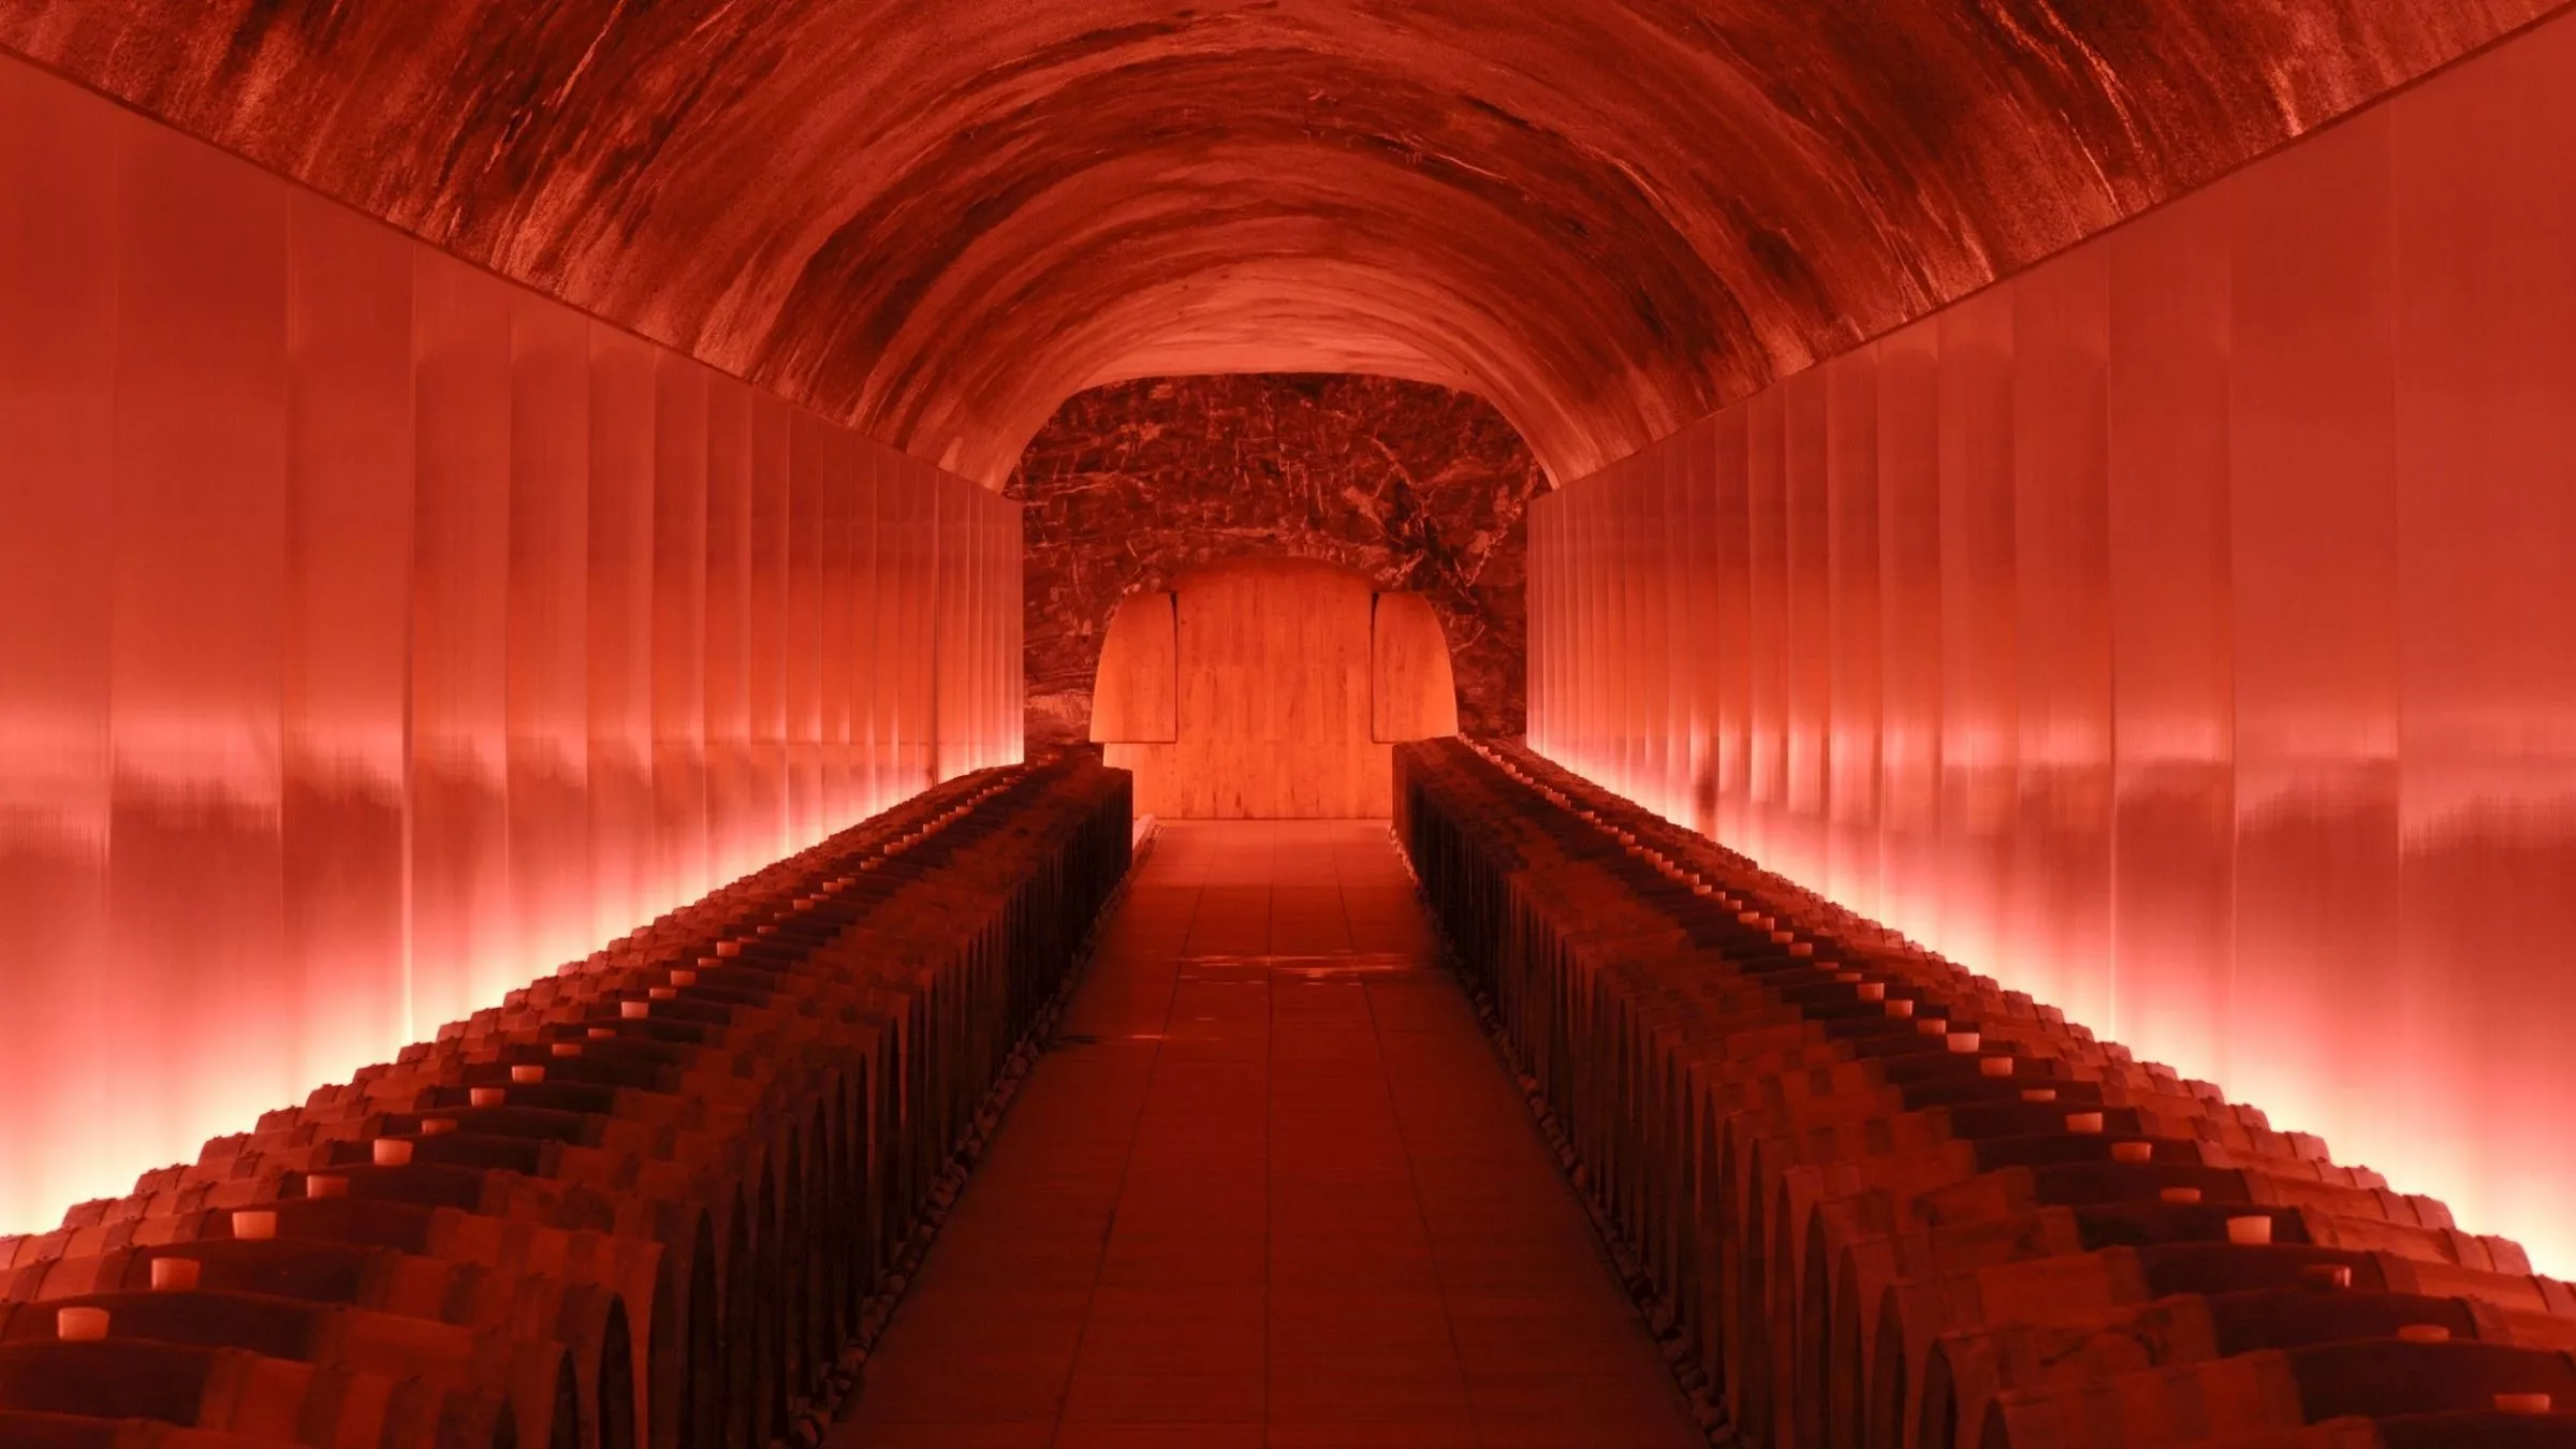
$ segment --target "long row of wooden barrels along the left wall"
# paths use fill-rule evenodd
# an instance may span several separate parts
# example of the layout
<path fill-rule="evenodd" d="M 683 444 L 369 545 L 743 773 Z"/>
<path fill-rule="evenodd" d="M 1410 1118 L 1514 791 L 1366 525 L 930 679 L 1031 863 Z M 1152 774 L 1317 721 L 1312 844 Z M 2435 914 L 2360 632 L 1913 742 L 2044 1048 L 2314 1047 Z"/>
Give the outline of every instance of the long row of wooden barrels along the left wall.
<path fill-rule="evenodd" d="M 984 771 L 0 1238 L 0 1444 L 819 1434 L 1128 866 Z"/>

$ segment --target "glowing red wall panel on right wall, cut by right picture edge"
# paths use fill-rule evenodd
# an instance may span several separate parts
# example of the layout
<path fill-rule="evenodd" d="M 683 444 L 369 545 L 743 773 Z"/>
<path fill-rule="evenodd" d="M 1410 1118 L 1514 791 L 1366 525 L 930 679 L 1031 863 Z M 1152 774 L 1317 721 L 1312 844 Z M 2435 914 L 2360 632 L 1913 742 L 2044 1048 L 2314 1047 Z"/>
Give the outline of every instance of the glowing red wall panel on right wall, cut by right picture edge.
<path fill-rule="evenodd" d="M 2398 977 L 2385 1106 L 2437 1181 L 2566 1220 L 2561 1024 L 2576 882 L 2576 31 L 2555 26 L 2398 113 Z M 2512 134 L 2512 144 L 2494 137 Z M 2452 982 L 2496 982 L 2455 990 Z M 2566 1266 L 2566 1258 L 2558 1258 Z"/>

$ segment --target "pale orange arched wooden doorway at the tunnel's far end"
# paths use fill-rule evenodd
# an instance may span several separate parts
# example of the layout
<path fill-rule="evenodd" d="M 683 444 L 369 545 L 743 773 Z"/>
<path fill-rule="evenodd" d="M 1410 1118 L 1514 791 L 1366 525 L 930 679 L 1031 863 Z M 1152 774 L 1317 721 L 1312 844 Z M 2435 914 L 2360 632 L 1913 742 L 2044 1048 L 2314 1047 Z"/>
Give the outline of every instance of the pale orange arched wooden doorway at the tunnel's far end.
<path fill-rule="evenodd" d="M 1394 810 L 1391 745 L 1458 732 L 1427 601 L 1319 559 L 1231 559 L 1128 596 L 1092 686 L 1092 740 L 1172 820 Z"/>

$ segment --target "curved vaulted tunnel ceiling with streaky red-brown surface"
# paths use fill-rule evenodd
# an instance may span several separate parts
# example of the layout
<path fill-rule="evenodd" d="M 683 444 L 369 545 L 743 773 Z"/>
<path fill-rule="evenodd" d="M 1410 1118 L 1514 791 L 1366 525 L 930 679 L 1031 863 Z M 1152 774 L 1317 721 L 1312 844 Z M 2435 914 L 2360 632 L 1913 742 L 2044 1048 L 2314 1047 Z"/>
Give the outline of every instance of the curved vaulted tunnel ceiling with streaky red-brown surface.
<path fill-rule="evenodd" d="M 0 44 L 989 485 L 1383 371 L 1558 480 L 2563 0 L 13 0 Z"/>

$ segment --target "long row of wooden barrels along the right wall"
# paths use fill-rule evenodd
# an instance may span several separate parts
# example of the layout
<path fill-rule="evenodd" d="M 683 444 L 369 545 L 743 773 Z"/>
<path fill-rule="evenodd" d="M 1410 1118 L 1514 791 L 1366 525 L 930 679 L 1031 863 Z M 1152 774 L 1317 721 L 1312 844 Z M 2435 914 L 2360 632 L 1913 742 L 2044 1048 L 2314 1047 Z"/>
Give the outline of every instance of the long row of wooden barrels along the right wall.
<path fill-rule="evenodd" d="M 1716 1441 L 2576 1444 L 2576 1289 L 1517 745 L 1396 830 Z"/>

